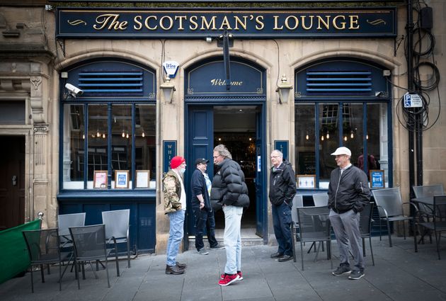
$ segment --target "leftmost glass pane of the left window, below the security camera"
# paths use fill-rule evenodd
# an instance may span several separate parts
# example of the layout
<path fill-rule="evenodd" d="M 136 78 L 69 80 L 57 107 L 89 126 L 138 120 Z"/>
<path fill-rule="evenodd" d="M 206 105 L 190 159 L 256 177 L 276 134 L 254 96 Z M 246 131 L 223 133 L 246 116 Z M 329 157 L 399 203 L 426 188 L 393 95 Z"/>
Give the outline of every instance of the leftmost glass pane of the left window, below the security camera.
<path fill-rule="evenodd" d="M 84 106 L 64 105 L 63 188 L 84 188 Z"/>

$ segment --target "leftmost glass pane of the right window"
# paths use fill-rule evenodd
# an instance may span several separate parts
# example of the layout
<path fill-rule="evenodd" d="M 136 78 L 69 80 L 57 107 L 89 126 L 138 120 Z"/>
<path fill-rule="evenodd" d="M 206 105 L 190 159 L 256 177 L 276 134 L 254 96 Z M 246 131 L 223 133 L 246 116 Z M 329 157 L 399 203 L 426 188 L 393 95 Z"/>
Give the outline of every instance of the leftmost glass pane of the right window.
<path fill-rule="evenodd" d="M 296 174 L 316 174 L 314 104 L 295 106 Z"/>

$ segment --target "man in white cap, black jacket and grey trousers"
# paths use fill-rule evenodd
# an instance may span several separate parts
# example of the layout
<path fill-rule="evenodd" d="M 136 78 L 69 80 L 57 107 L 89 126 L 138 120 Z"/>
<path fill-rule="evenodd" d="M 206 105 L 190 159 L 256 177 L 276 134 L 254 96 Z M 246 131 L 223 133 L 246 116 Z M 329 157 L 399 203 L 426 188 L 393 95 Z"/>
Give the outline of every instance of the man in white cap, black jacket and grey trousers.
<path fill-rule="evenodd" d="M 364 171 L 350 163 L 352 152 L 339 147 L 335 156 L 338 168 L 331 171 L 328 185 L 328 208 L 330 222 L 336 235 L 341 264 L 333 271 L 334 276 L 350 274 L 349 279 L 357 280 L 364 274 L 362 239 L 359 229 L 360 212 L 364 203 L 370 201 L 370 189 Z M 350 268 L 348 245 L 353 252 L 355 268 Z"/>

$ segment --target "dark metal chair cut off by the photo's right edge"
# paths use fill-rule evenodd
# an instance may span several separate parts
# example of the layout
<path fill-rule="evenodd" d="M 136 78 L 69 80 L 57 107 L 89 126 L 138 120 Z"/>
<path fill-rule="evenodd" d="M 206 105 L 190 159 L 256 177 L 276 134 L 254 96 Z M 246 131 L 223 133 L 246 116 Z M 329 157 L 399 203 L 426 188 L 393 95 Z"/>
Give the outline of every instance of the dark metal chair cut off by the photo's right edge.
<path fill-rule="evenodd" d="M 418 226 L 424 227 L 435 233 L 435 243 L 437 244 L 438 259 L 440 260 L 441 232 L 446 231 L 446 195 L 435 195 L 433 197 L 432 214 L 430 212 L 418 210 L 417 215 Z M 421 218 L 423 216 L 428 218 Z"/>

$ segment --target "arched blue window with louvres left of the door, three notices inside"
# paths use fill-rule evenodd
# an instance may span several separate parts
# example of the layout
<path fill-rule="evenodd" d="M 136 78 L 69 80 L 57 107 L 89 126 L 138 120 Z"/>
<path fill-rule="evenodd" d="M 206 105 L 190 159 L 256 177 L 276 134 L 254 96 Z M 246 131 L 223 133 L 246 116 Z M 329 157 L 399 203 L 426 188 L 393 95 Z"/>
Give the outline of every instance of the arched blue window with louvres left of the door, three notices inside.
<path fill-rule="evenodd" d="M 61 74 L 62 190 L 156 188 L 154 71 L 105 59 Z"/>

